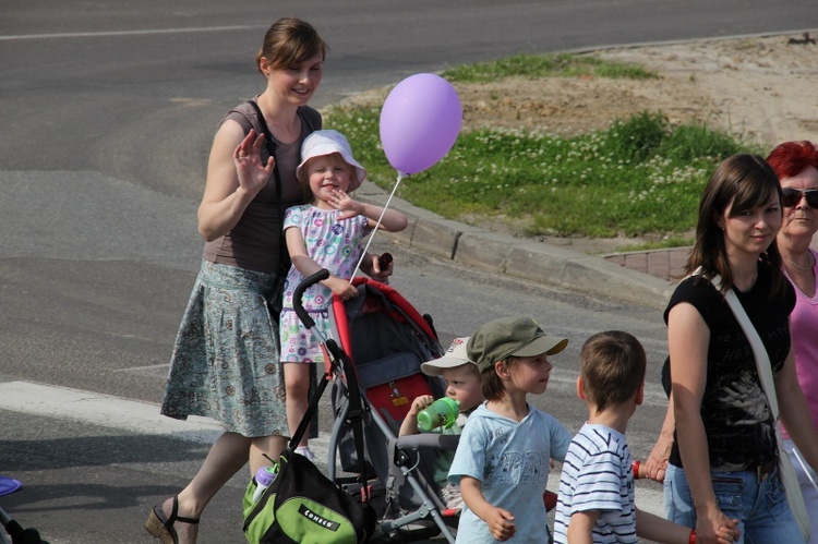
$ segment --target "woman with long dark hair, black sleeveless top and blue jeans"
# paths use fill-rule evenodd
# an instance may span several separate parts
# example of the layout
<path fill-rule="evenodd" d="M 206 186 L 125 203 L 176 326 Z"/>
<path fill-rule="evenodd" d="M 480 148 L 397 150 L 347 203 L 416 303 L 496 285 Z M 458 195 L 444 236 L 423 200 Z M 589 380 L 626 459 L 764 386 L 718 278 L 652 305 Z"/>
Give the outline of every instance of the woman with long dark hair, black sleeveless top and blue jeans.
<path fill-rule="evenodd" d="M 781 421 L 807 462 L 818 438 L 795 376 L 792 286 L 775 235 L 781 188 L 763 158 L 734 155 L 713 172 L 699 204 L 690 274 L 665 311 L 675 433 L 664 477 L 669 519 L 715 542 L 739 520 L 747 542 L 803 541 L 778 472 L 775 421 L 749 341 L 725 293 L 733 291 L 768 352 Z M 721 277 L 719 287 L 711 282 Z"/>

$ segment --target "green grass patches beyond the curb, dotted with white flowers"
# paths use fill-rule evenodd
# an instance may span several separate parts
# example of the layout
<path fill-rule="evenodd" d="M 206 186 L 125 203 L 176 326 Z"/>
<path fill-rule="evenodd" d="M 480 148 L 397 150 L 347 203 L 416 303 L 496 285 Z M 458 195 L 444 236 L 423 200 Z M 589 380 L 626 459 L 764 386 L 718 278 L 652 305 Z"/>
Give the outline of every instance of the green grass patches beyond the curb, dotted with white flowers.
<path fill-rule="evenodd" d="M 593 59 L 517 56 L 444 75 L 481 81 L 496 74 L 539 77 L 597 70 L 600 64 L 589 60 Z M 612 63 L 603 64 L 605 71 L 622 73 Z M 392 190 L 397 173 L 381 147 L 378 120 L 380 107 L 336 108 L 325 125 L 346 134 L 370 179 Z M 708 177 L 723 158 L 742 150 L 758 153 L 739 136 L 703 123 L 673 126 L 660 111 L 643 111 L 575 137 L 464 131 L 446 157 L 402 180 L 397 194 L 450 219 L 505 220 L 528 235 L 662 233 L 663 244 L 684 245 L 689 240 L 678 234 L 695 227 Z"/>

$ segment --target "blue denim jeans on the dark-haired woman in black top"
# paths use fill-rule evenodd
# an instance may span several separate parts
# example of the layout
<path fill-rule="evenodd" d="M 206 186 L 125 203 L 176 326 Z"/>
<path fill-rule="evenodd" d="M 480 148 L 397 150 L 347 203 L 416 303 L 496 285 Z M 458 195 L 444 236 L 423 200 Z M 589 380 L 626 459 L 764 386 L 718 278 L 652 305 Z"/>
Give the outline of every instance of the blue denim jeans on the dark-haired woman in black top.
<path fill-rule="evenodd" d="M 775 468 L 759 482 L 755 471 L 711 471 L 713 493 L 721 511 L 739 521 L 738 544 L 792 544 L 804 542 L 790 511 L 786 494 Z M 664 476 L 665 517 L 685 527 L 696 527 L 696 510 L 685 471 L 667 466 Z"/>

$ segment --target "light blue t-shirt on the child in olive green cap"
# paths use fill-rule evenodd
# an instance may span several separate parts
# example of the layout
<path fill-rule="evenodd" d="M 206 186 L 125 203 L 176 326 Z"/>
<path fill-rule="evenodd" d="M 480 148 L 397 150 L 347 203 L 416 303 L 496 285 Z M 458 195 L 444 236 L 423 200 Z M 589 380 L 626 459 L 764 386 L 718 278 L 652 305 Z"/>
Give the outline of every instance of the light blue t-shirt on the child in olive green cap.
<path fill-rule="evenodd" d="M 551 459 L 562 462 L 569 443 L 570 433 L 558 421 L 530 404 L 528 415 L 519 423 L 481 404 L 464 427 L 448 479 L 454 484 L 459 484 L 461 476 L 479 480 L 485 499 L 512 512 L 516 533 L 508 542 L 548 543 L 542 495 Z M 466 506 L 457 542 L 496 541 L 483 520 Z"/>

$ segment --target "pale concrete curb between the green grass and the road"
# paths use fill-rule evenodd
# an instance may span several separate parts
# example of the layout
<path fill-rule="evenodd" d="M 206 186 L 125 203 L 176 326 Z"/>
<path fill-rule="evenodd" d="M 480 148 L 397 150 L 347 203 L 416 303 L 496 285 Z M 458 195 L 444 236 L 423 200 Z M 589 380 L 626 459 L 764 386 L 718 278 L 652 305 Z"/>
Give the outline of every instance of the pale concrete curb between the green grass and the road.
<path fill-rule="evenodd" d="M 356 197 L 383 206 L 388 194 L 364 181 Z M 673 292 L 669 281 L 600 256 L 453 221 L 397 197 L 389 207 L 406 214 L 409 227 L 378 235 L 466 267 L 659 310 Z"/>

